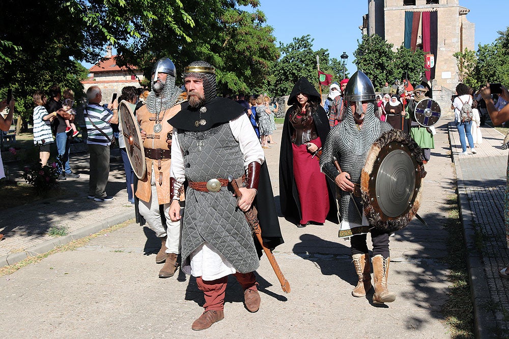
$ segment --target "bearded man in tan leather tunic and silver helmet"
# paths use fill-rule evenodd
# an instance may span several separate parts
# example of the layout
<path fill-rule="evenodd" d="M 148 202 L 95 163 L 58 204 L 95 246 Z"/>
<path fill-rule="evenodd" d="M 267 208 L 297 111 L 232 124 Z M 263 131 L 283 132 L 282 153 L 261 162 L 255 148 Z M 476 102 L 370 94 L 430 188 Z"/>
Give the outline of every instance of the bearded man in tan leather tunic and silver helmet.
<path fill-rule="evenodd" d="M 173 222 L 168 214 L 172 202 L 169 195 L 169 168 L 173 127 L 167 120 L 180 111 L 181 106 L 177 101 L 182 93 L 175 85 L 176 74 L 172 60 L 167 57 L 157 60 L 152 68 L 152 91 L 147 104 L 136 111 L 147 164 L 145 177 L 137 183 L 136 197 L 139 199 L 139 214 L 161 241 L 156 263 L 164 263 L 164 266 L 159 271 L 159 278 L 169 278 L 175 274 L 177 256 L 180 254 L 181 224 L 179 221 Z M 161 210 L 165 220 L 161 218 Z"/>

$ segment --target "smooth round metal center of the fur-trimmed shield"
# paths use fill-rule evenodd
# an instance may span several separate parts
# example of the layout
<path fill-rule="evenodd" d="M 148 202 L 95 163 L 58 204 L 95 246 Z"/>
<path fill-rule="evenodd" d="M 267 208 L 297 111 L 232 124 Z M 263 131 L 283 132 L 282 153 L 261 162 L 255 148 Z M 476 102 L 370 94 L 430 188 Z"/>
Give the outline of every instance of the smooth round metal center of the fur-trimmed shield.
<path fill-rule="evenodd" d="M 400 149 L 388 153 L 380 164 L 375 194 L 388 217 L 399 217 L 408 209 L 415 190 L 415 170 L 410 155 Z"/>

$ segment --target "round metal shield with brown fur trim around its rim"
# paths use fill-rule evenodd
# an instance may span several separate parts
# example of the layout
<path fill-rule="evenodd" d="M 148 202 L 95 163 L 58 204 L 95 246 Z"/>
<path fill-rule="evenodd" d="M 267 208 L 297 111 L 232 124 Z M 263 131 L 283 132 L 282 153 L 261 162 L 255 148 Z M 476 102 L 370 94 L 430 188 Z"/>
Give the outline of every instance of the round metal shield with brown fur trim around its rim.
<path fill-rule="evenodd" d="M 361 173 L 364 213 L 370 225 L 387 233 L 407 226 L 419 209 L 425 175 L 421 149 L 407 133 L 382 134 Z"/>

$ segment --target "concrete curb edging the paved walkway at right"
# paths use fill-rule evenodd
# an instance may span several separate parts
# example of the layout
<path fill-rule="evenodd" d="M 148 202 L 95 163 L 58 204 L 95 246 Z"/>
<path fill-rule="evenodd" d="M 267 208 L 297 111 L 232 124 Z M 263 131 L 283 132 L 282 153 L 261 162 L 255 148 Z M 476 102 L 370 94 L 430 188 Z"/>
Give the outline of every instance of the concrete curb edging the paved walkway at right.
<path fill-rule="evenodd" d="M 475 248 L 475 228 L 472 224 L 472 213 L 470 202 L 466 194 L 466 186 L 463 181 L 461 165 L 455 162 L 455 154 L 453 152 L 453 143 L 451 142 L 450 133 L 455 133 L 452 122 L 448 124 L 449 131 L 449 147 L 451 157 L 456 167 L 456 182 L 458 187 L 458 203 L 460 208 L 460 218 L 463 225 L 463 235 L 466 246 L 466 262 L 468 269 L 468 279 L 470 283 L 470 293 L 472 294 L 472 304 L 474 309 L 474 334 L 478 339 L 496 338 L 493 329 L 493 319 L 495 314 L 488 310 L 487 305 L 491 302 L 490 290 L 488 288 L 488 280 L 484 270 L 483 257 Z"/>

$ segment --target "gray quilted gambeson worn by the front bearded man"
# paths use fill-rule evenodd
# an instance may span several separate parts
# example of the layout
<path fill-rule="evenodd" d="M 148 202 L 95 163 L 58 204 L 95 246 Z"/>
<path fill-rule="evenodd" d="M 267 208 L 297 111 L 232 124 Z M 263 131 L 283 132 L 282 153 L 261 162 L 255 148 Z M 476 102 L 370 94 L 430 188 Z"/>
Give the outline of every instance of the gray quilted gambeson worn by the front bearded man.
<path fill-rule="evenodd" d="M 228 122 L 204 132 L 178 130 L 177 133 L 188 180 L 208 181 L 228 178 L 228 175 L 238 178 L 244 174 L 244 156 Z M 187 189 L 182 267 L 189 267 L 189 255 L 204 242 L 241 273 L 252 272 L 260 264 L 251 229 L 237 207 L 237 198 L 227 187 L 221 187 L 219 192 Z"/>

